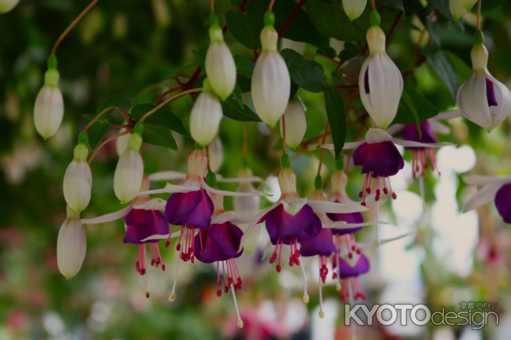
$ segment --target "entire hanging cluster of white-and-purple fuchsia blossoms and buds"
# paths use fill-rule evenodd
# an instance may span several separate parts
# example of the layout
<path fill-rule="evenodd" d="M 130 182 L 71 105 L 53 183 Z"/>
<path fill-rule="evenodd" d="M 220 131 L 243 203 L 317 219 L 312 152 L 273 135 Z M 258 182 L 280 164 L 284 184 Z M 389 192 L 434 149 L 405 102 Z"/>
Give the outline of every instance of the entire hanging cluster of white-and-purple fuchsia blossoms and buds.
<path fill-rule="evenodd" d="M 300 9 L 303 3 L 305 2 L 300 2 L 297 9 Z M 455 19 L 461 17 L 472 8 L 474 3 L 474 0 L 451 0 L 452 16 Z M 1 12 L 10 10 L 12 8 L 10 6 L 14 6 L 16 2 L 0 4 Z M 365 11 L 366 4 L 366 0 L 342 1 L 345 14 L 350 20 L 357 20 Z M 253 61 L 250 98 L 247 100 L 246 96 L 241 98 L 240 93 L 236 93 L 239 75 L 235 58 L 224 41 L 224 32 L 219 26 L 218 15 L 212 13 L 209 30 L 210 45 L 203 65 L 206 77 L 201 78 L 203 84 L 201 88 L 193 87 L 201 72 L 199 67 L 189 83 L 180 84 L 180 87 L 164 93 L 156 101 L 157 105 L 142 117 L 135 119 L 133 114 L 128 117 L 119 107 L 113 107 L 123 113 L 126 121 L 126 124 L 122 126 L 123 130 L 110 137 L 117 138 L 119 160 L 113 176 L 113 192 L 124 205 L 121 210 L 95 218 L 80 219 L 80 213 L 87 208 L 91 198 L 92 174 L 89 163 L 103 145 L 100 144 L 100 147 L 87 160 L 89 153 L 86 144 L 87 130 L 90 124 L 101 118 L 104 111 L 80 133 L 74 150 L 74 159 L 68 165 L 63 179 L 67 217 L 58 234 L 57 263 L 64 277 L 70 279 L 77 275 L 84 262 L 86 252 L 84 225 L 124 218 L 123 242 L 137 245 L 135 270 L 138 274 L 146 278 L 148 264 L 167 271 L 169 265 L 164 263 L 161 251 L 165 252 L 165 250 L 160 249 L 159 241 L 165 240 L 165 248 L 169 248 L 172 238 L 176 238 L 175 251 L 172 250 L 172 253 L 177 254 L 178 261 L 173 271 L 174 281 L 169 300 L 176 300 L 179 265 L 196 265 L 197 261 L 213 264 L 216 267 L 217 296 L 221 297 L 222 294 L 231 292 L 239 327 L 243 326 L 243 321 L 235 292 L 242 289 L 243 281 L 237 259 L 255 247 L 254 239 L 261 230 L 266 230 L 269 237 L 263 258 L 268 257 L 267 261 L 274 265 L 277 273 L 281 273 L 287 267 L 300 267 L 304 280 L 302 297 L 304 303 L 309 302 L 308 278 L 305 269 L 308 261 L 304 258 L 317 259 L 320 317 L 324 317 L 322 285 L 328 283 L 328 277 L 336 281 L 340 300 L 343 303 L 365 299 L 359 277 L 369 271 L 370 263 L 369 257 L 364 254 L 364 249 L 379 247 L 410 235 L 404 234 L 392 239 L 381 238 L 381 228 L 385 223 L 380 221 L 380 207 L 387 199 L 399 199 L 391 184 L 392 177 L 405 166 L 402 151 L 398 147 L 403 147 L 404 153 L 411 154 L 412 177 L 419 179 L 424 197 L 424 177 L 427 169 L 440 174 L 435 159 L 435 149 L 453 145 L 448 142 L 438 142 L 435 134 L 449 133 L 449 129 L 439 123 L 439 120 L 448 118 L 445 115 L 439 114 L 435 117 L 429 115 L 428 119 L 422 119 L 422 121 L 415 119 L 414 124 L 392 124 L 396 122 L 398 113 L 401 112 L 400 105 L 403 103 L 412 113 L 417 113 L 417 108 L 410 109 L 413 103 L 410 104 L 410 95 L 404 89 L 403 75 L 386 52 L 387 37 L 380 28 L 380 14 L 376 11 L 374 1 L 371 5 L 373 11 L 369 16 L 370 27 L 366 33 L 368 51 L 367 55 L 365 52 L 362 53 L 366 58 L 358 75 L 353 77 L 355 81 L 358 79 L 358 83 L 338 87 L 355 89 L 352 94 L 346 96 L 350 99 L 350 104 L 347 109 L 344 109 L 342 97 L 337 103 L 338 106 L 332 104 L 332 96 L 327 93 L 327 88 L 332 86 L 327 84 L 328 80 L 324 77 L 320 86 L 325 88 L 325 107 L 329 123 L 321 136 L 317 136 L 314 141 L 310 140 L 308 143 L 303 142 L 308 132 L 307 122 L 310 119 L 309 115 L 306 115 L 304 105 L 307 101 L 303 96 L 300 98 L 299 93 L 292 93 L 291 90 L 292 82 L 302 84 L 301 80 L 306 77 L 294 69 L 298 67 L 296 64 L 285 59 L 284 52 L 281 54 L 278 50 L 278 42 L 289 22 L 283 23 L 280 32 L 275 30 L 273 1 L 270 2 L 270 7 L 262 18 L 264 28 L 260 33 L 261 52 L 258 54 L 257 48 L 254 48 L 254 57 L 257 60 Z M 242 7 L 240 6 L 240 11 Z M 212 6 L 212 12 L 214 12 L 214 6 Z M 75 24 L 76 22 L 73 25 Z M 487 70 L 488 51 L 483 45 L 483 35 L 479 27 L 475 40 L 476 44 L 471 52 L 473 72 L 457 92 L 456 102 L 459 112 L 456 115 L 462 115 L 490 132 L 500 125 L 511 111 L 511 93 Z M 56 47 L 48 59 L 44 85 L 34 105 L 34 125 L 44 139 L 57 133 L 64 113 L 62 93 L 58 86 L 59 72 L 55 50 Z M 305 59 L 304 63 L 307 64 Z M 310 64 L 309 66 L 312 67 Z M 321 68 L 320 65 L 319 67 Z M 160 101 L 166 94 L 177 90 L 180 92 L 172 98 Z M 191 108 L 189 120 L 190 136 L 195 142 L 195 148 L 188 157 L 188 172 L 182 174 L 170 169 L 146 176 L 143 152 L 145 143 L 150 138 L 144 134 L 144 131 L 150 124 L 153 125 L 157 121 L 154 119 L 155 116 L 151 117 L 151 115 L 180 96 L 197 93 L 199 94 Z M 358 106 L 365 110 L 362 112 L 362 119 L 358 118 L 363 124 L 357 137 L 345 142 L 346 117 L 344 115 L 349 114 L 353 107 L 354 96 L 357 94 L 360 96 Z M 230 105 L 231 98 L 235 99 L 236 104 L 243 109 L 253 108 L 254 113 L 251 112 L 251 117 L 255 117 L 251 118 L 253 121 L 258 120 L 259 117 L 260 121 L 270 128 L 274 128 L 279 123 L 282 157 L 281 165 L 275 169 L 274 173 L 278 172 L 281 196 L 274 204 L 264 209 L 260 208 L 261 197 L 270 195 L 258 190 L 259 187 L 254 188 L 252 184 L 263 182 L 260 185 L 262 187 L 264 180 L 254 177 L 248 166 L 246 132 L 241 157 L 243 167 L 239 176 L 223 178 L 217 174 L 223 162 L 222 142 L 218 132 L 225 107 Z M 152 123 L 144 123 L 150 118 L 154 119 Z M 409 117 L 406 118 L 404 120 L 409 123 Z M 250 121 L 246 115 L 240 120 Z M 369 121 L 370 126 L 368 126 Z M 329 128 L 333 135 L 333 143 L 326 143 Z M 365 137 L 357 140 L 363 132 Z M 398 132 L 401 133 L 402 139 L 394 137 Z M 317 140 L 321 142 L 318 143 Z M 319 149 L 319 166 L 314 179 L 314 191 L 308 198 L 304 198 L 298 194 L 297 179 L 291 168 L 291 157 L 288 155 L 287 147 L 293 149 L 294 155 L 297 155 L 310 151 L 311 142 L 316 143 L 315 149 Z M 337 159 L 336 171 L 330 178 L 330 195 L 327 195 L 324 190 L 321 177 L 324 149 L 331 150 Z M 352 160 L 353 164 L 346 163 L 344 166 L 343 159 Z M 360 190 L 357 190 L 357 201 L 353 201 L 346 190 L 348 182 L 352 180 L 346 174 L 351 165 L 359 166 L 360 174 L 364 175 L 363 184 Z M 511 223 L 509 203 L 511 178 L 469 176 L 465 180 L 470 185 L 483 187 L 467 201 L 464 211 L 494 200 L 504 221 Z M 164 187 L 151 189 L 151 181 L 167 181 L 167 183 Z M 221 182 L 239 183 L 239 186 L 236 191 L 221 190 L 218 188 L 218 183 Z M 167 199 L 151 198 L 156 194 L 170 195 Z M 225 196 L 234 197 L 234 211 L 225 211 Z M 374 220 L 369 220 L 369 215 L 363 215 L 369 211 L 374 212 Z M 367 243 L 359 242 L 359 232 L 371 226 L 376 229 L 376 239 Z M 150 259 L 146 254 L 147 248 L 149 248 Z M 181 264 L 181 262 L 185 263 Z M 146 296 L 149 297 L 147 288 Z"/>

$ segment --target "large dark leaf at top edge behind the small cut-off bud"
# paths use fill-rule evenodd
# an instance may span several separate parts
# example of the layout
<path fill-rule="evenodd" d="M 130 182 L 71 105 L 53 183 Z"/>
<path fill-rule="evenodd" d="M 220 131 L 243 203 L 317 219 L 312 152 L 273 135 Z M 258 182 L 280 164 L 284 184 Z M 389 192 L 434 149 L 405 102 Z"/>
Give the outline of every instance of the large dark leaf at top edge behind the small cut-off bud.
<path fill-rule="evenodd" d="M 369 28 L 370 6 L 357 19 L 350 21 L 340 1 L 308 0 L 307 14 L 318 31 L 342 41 L 365 39 Z"/>

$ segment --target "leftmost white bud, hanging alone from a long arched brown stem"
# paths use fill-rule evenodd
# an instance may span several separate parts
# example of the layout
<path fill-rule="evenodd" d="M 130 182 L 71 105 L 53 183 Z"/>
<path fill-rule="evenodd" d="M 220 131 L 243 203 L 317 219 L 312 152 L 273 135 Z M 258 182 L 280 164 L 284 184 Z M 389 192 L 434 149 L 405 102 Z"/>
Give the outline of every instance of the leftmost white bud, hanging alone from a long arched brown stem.
<path fill-rule="evenodd" d="M 58 81 L 59 72 L 56 69 L 46 71 L 44 85 L 35 99 L 34 125 L 44 139 L 57 133 L 64 117 L 64 100 Z"/>

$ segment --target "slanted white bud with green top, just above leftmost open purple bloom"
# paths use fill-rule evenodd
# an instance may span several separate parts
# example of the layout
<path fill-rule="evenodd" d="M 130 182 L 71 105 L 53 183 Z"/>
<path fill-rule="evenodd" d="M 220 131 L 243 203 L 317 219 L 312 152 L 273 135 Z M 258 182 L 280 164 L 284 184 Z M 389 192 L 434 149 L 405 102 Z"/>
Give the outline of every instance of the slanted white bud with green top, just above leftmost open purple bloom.
<path fill-rule="evenodd" d="M 126 151 L 122 154 L 113 175 L 113 191 L 115 196 L 125 204 L 131 202 L 142 186 L 144 162 L 140 155 L 142 136 L 132 133 Z"/>

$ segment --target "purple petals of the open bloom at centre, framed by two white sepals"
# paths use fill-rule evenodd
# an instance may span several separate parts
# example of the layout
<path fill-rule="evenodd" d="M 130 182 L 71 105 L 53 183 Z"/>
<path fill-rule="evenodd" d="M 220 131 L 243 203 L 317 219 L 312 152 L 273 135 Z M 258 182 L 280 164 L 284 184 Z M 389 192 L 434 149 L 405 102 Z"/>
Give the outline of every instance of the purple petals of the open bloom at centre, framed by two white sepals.
<path fill-rule="evenodd" d="M 284 210 L 284 205 L 280 204 L 262 218 L 266 221 L 266 230 L 271 239 L 278 239 L 286 236 L 297 236 L 306 230 L 315 214 L 312 208 L 305 205 L 294 216 Z"/>

